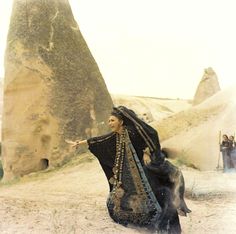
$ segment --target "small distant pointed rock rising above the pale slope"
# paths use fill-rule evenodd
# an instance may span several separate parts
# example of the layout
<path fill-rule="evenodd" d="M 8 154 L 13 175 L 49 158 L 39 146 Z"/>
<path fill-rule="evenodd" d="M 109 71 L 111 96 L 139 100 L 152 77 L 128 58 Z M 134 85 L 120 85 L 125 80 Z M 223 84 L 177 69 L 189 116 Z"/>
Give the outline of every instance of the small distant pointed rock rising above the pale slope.
<path fill-rule="evenodd" d="M 220 85 L 218 78 L 214 70 L 209 67 L 205 69 L 203 77 L 197 87 L 196 93 L 193 99 L 193 105 L 197 105 L 210 96 L 220 91 Z"/>

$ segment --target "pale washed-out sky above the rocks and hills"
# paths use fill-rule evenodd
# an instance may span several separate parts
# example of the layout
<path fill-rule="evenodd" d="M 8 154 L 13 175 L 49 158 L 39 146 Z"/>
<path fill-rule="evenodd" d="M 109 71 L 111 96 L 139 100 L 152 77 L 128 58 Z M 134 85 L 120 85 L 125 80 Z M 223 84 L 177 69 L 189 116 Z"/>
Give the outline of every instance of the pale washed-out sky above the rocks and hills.
<path fill-rule="evenodd" d="M 0 0 L 0 77 L 12 0 Z M 235 0 L 70 0 L 111 93 L 192 98 L 212 67 L 236 79 Z"/>

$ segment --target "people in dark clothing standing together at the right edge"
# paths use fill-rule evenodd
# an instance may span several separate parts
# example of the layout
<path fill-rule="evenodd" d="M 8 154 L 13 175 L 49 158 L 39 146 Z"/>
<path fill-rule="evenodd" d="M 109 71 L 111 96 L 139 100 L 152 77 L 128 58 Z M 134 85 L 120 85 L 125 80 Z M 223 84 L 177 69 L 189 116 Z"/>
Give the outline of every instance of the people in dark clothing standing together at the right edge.
<path fill-rule="evenodd" d="M 223 135 L 220 151 L 223 157 L 223 171 L 227 172 L 236 169 L 236 143 L 234 136 Z"/>

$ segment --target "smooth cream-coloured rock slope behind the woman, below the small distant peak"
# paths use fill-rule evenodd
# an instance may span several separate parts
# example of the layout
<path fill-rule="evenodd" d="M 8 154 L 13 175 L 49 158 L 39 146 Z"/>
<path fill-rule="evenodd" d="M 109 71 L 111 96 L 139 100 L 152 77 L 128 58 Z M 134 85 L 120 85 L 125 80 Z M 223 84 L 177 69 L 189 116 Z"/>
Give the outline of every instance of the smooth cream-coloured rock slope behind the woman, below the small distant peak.
<path fill-rule="evenodd" d="M 221 134 L 236 131 L 236 86 L 220 91 L 205 102 L 153 124 L 170 157 L 178 157 L 201 170 L 221 163 Z"/>

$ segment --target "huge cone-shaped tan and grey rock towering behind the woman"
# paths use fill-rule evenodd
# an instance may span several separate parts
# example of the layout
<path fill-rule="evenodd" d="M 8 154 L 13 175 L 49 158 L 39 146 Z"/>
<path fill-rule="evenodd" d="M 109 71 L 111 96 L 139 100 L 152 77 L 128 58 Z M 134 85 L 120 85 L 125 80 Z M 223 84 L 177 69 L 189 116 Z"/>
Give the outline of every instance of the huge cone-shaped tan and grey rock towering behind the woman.
<path fill-rule="evenodd" d="M 5 54 L 4 179 L 57 166 L 104 130 L 112 100 L 68 0 L 15 0 Z"/>

